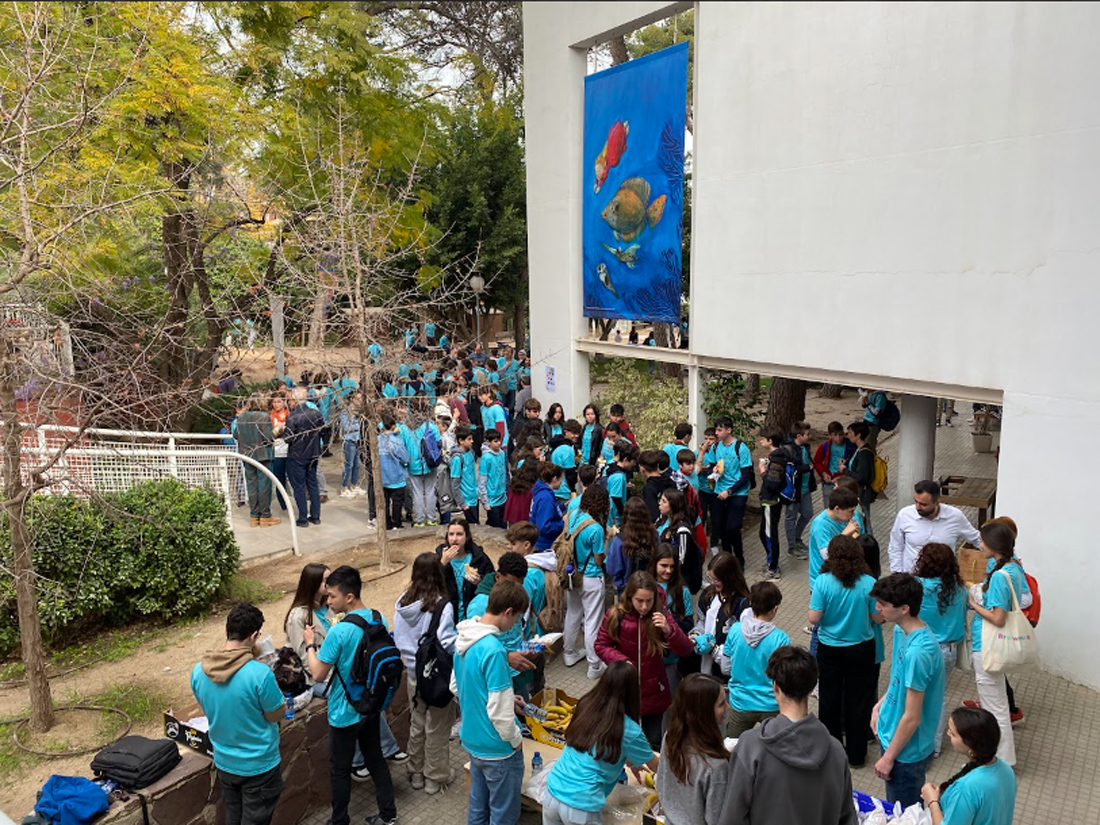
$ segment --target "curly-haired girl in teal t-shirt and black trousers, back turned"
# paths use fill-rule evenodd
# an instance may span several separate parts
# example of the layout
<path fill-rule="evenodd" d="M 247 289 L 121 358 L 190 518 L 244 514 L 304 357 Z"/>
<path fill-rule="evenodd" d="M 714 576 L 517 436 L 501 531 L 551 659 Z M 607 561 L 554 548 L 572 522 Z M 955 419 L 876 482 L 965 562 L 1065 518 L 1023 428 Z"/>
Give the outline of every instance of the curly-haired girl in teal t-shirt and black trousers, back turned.
<path fill-rule="evenodd" d="M 867 762 L 867 729 L 875 703 L 875 580 L 864 549 L 850 536 L 834 536 L 828 559 L 810 594 L 810 624 L 817 625 L 817 715 L 844 743 L 848 762 Z"/>

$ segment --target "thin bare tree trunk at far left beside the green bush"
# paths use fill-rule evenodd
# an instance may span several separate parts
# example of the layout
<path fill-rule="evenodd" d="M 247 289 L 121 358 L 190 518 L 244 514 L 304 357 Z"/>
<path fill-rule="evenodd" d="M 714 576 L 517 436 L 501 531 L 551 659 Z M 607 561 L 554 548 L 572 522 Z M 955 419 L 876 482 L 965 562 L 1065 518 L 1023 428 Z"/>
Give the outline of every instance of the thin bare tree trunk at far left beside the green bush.
<path fill-rule="evenodd" d="M 42 646 L 42 626 L 35 593 L 34 557 L 26 529 L 28 488 L 20 472 L 23 427 L 19 422 L 13 384 L 14 345 L 11 339 L 0 340 L 0 432 L 3 433 L 4 509 L 11 530 L 12 573 L 15 579 L 15 603 L 19 610 L 19 640 L 26 666 L 26 683 L 31 692 L 30 727 L 48 730 L 54 725 L 54 703 L 46 678 L 46 658 Z"/>

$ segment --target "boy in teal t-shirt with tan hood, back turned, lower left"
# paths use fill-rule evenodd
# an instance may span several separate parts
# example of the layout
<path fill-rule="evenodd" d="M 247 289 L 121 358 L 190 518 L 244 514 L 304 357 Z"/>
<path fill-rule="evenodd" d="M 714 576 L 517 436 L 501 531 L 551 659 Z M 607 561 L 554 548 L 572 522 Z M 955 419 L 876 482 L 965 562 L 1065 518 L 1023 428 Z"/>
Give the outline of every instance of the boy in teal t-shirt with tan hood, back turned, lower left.
<path fill-rule="evenodd" d="M 283 792 L 278 723 L 286 711 L 271 668 L 252 658 L 264 614 L 239 604 L 226 617 L 226 647 L 191 670 L 191 692 L 210 724 L 226 822 L 266 822 Z M 264 817 L 267 817 L 266 820 Z"/>

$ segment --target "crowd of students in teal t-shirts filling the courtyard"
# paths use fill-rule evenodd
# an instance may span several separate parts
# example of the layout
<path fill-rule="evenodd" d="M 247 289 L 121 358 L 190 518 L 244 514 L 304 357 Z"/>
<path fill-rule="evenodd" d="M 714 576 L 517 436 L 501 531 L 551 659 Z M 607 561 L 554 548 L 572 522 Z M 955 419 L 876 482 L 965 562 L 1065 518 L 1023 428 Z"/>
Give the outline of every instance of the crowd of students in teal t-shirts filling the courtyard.
<path fill-rule="evenodd" d="M 936 823 L 1011 822 L 1008 688 L 1003 675 L 981 670 L 980 656 L 982 623 L 1003 625 L 1012 592 L 1021 600 L 1027 594 L 1007 519 L 981 526 L 989 566 L 969 593 L 955 548 L 942 542 L 925 543 L 912 571 L 880 576 L 869 513 L 876 494 L 867 474 L 878 433 L 867 420 L 829 424 L 816 449 L 809 424 L 790 433 L 765 430 L 757 464 L 728 418 L 716 420 L 697 449 L 682 424 L 660 449 L 640 450 L 620 405 L 603 424 L 594 404 L 583 420 L 566 418 L 560 405 L 543 418 L 539 402 L 528 398 L 509 421 L 499 387 L 491 381 L 475 386 L 479 418 L 470 418 L 472 396 L 460 381 L 419 424 L 398 420 L 397 413 L 415 416 L 422 407 L 388 408 L 377 436 L 387 499 L 402 481 L 398 465 L 406 481 L 430 475 L 431 484 L 416 483 L 424 491 L 415 493 L 416 522 L 446 522 L 435 553 L 414 561 L 394 612 L 394 639 L 409 672 L 414 789 L 431 794 L 453 782 L 448 739 L 458 716 L 470 755 L 469 823 L 516 822 L 522 706 L 544 684 L 544 657 L 529 653 L 525 642 L 560 623 L 564 664 L 584 661 L 595 685 L 578 703 L 564 750 L 549 769 L 547 823 L 598 822 L 627 762 L 656 771 L 669 825 L 855 822 L 850 769 L 866 763 L 869 740 L 880 746 L 873 767 L 888 800 L 923 800 Z M 425 458 L 429 430 L 440 459 L 431 473 L 415 472 L 414 453 Z M 437 501 L 431 509 L 429 487 L 442 488 L 454 504 Z M 762 565 L 750 587 L 741 528 L 757 487 Z M 399 526 L 399 508 L 389 510 L 391 526 Z M 509 550 L 496 564 L 470 529 L 483 514 L 490 525 L 506 527 Z M 809 559 L 809 651 L 776 625 L 783 604 L 781 525 L 787 552 Z M 556 547 L 571 553 L 563 578 Z M 359 601 L 351 573 L 341 568 L 327 584 L 315 586 L 315 576 L 299 587 L 286 632 L 311 675 L 329 684 L 332 822 L 348 822 L 345 778 L 358 751 L 378 795 L 378 814 L 369 822 L 392 823 L 385 727 L 377 717 L 348 714 L 330 678 L 358 631 L 345 622 L 329 624 L 324 587 L 329 610 L 386 622 Z M 981 707 L 949 711 L 945 684 L 968 606 Z M 879 696 L 887 625 L 892 658 Z M 416 650 L 431 628 L 453 654 L 454 700 L 443 707 L 416 701 Z M 813 693 L 817 716 L 809 711 Z M 945 736 L 969 759 L 937 788 L 925 783 L 925 773 Z"/>

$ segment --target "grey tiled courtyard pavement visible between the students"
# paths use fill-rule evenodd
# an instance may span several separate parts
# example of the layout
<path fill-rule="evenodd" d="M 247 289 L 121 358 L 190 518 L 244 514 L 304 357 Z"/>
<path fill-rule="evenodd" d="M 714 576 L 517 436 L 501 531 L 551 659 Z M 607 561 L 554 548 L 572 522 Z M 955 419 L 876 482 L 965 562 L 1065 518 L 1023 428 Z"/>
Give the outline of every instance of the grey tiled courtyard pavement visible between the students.
<path fill-rule="evenodd" d="M 964 425 L 966 416 L 956 419 Z M 898 436 L 893 433 L 880 446 L 884 454 L 897 460 Z M 897 466 L 897 464 L 894 464 Z M 959 426 L 937 430 L 936 474 L 972 473 L 996 475 L 992 455 L 976 454 L 970 447 L 969 428 Z M 898 497 L 893 488 L 889 498 L 880 501 L 873 510 L 875 534 L 883 542 L 889 535 Z M 820 497 L 815 507 L 820 508 Z M 971 519 L 977 512 L 967 508 Z M 1011 515 L 1011 514 L 1004 514 Z M 756 580 L 762 564 L 762 551 L 756 537 L 756 525 L 745 530 L 745 547 L 748 557 L 749 582 Z M 883 559 L 884 561 L 884 559 Z M 883 564 L 886 566 L 886 564 Z M 794 561 L 783 554 L 783 579 L 780 582 L 784 602 L 777 619 L 792 641 L 809 646 L 809 637 L 802 632 L 806 624 L 806 605 L 810 593 L 806 579 L 806 563 Z M 889 646 L 890 635 L 887 634 Z M 890 651 L 887 650 L 887 662 Z M 884 690 L 889 666 L 883 668 L 880 690 Z M 1015 728 L 1019 765 L 1019 793 L 1016 795 L 1018 825 L 1047 825 L 1049 823 L 1100 823 L 1100 694 L 1064 679 L 1046 673 L 1036 673 L 1012 680 L 1016 701 L 1026 714 L 1025 721 Z M 581 695 L 591 682 L 585 678 L 584 668 L 578 666 L 566 670 L 558 659 L 547 668 L 547 682 L 554 688 L 563 688 L 572 695 Z M 957 705 L 964 698 L 975 696 L 974 678 L 969 673 L 956 671 L 948 683 L 948 698 Z M 813 710 L 813 707 L 812 707 Z M 857 789 L 882 795 L 882 782 L 875 777 L 870 767 L 877 757 L 877 748 L 871 747 L 867 768 L 854 772 Z M 458 743 L 451 744 L 452 765 L 461 767 L 465 754 Z M 963 765 L 963 758 L 945 752 L 932 766 L 928 778 L 939 782 Z M 403 825 L 418 823 L 458 824 L 465 822 L 466 790 L 460 778 L 453 789 L 442 796 L 428 796 L 422 791 L 414 791 L 408 785 L 405 770 L 394 766 L 397 787 L 397 806 Z M 353 791 L 353 822 L 362 822 L 365 814 L 374 813 L 373 785 L 367 782 Z M 306 822 L 308 825 L 323 825 L 328 811 L 318 811 Z M 534 813 L 520 816 L 522 825 L 537 825 L 541 820 Z"/>

